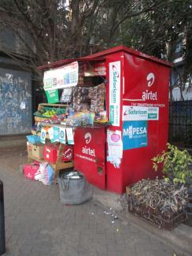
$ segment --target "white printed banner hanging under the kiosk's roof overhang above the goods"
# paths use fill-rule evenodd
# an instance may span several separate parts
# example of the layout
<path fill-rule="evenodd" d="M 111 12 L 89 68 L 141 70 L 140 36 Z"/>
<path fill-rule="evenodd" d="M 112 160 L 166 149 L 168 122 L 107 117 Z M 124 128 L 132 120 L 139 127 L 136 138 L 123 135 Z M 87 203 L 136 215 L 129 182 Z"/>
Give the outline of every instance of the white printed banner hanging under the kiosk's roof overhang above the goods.
<path fill-rule="evenodd" d="M 78 83 L 78 70 L 78 62 L 75 61 L 59 69 L 51 69 L 44 72 L 44 90 L 49 91 L 76 86 Z"/>

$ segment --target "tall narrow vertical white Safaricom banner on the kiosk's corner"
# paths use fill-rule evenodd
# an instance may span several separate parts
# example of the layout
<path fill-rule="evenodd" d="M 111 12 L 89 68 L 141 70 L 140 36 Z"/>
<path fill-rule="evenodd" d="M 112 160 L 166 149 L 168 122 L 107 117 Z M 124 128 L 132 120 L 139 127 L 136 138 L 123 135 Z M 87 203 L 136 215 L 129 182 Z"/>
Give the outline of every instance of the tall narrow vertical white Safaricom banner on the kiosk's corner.
<path fill-rule="evenodd" d="M 120 126 L 120 61 L 109 63 L 109 121 Z"/>

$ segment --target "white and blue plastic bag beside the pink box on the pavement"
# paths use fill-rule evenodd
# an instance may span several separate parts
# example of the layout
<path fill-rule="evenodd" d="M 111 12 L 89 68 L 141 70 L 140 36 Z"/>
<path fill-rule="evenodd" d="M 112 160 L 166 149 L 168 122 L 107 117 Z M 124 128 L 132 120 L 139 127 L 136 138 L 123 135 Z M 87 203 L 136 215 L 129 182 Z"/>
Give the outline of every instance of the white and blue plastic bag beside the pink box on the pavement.
<path fill-rule="evenodd" d="M 47 162 L 40 164 L 39 171 L 35 173 L 35 180 L 41 181 L 44 185 L 52 184 L 54 169 Z"/>

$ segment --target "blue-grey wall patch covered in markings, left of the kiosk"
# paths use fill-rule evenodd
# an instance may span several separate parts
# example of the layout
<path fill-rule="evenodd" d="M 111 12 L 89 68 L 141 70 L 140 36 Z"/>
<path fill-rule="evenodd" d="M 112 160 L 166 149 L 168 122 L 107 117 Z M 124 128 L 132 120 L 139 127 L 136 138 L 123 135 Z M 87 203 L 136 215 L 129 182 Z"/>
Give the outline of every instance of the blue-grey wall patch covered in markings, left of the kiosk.
<path fill-rule="evenodd" d="M 31 73 L 0 69 L 0 135 L 31 130 Z"/>

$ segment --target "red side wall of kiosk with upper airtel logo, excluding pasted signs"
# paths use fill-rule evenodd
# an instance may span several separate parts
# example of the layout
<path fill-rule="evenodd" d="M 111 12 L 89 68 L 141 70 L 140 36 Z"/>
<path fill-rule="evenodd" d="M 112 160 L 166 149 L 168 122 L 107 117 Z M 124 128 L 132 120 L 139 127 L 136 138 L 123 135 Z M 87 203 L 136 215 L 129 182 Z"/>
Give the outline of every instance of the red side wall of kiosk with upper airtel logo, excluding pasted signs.
<path fill-rule="evenodd" d="M 147 147 L 124 150 L 123 191 L 142 178 L 155 178 L 151 158 L 168 142 L 168 86 L 170 68 L 130 54 L 124 57 L 124 106 L 159 108 L 159 119 L 147 121 Z M 122 131 L 124 132 L 124 131 Z"/>

